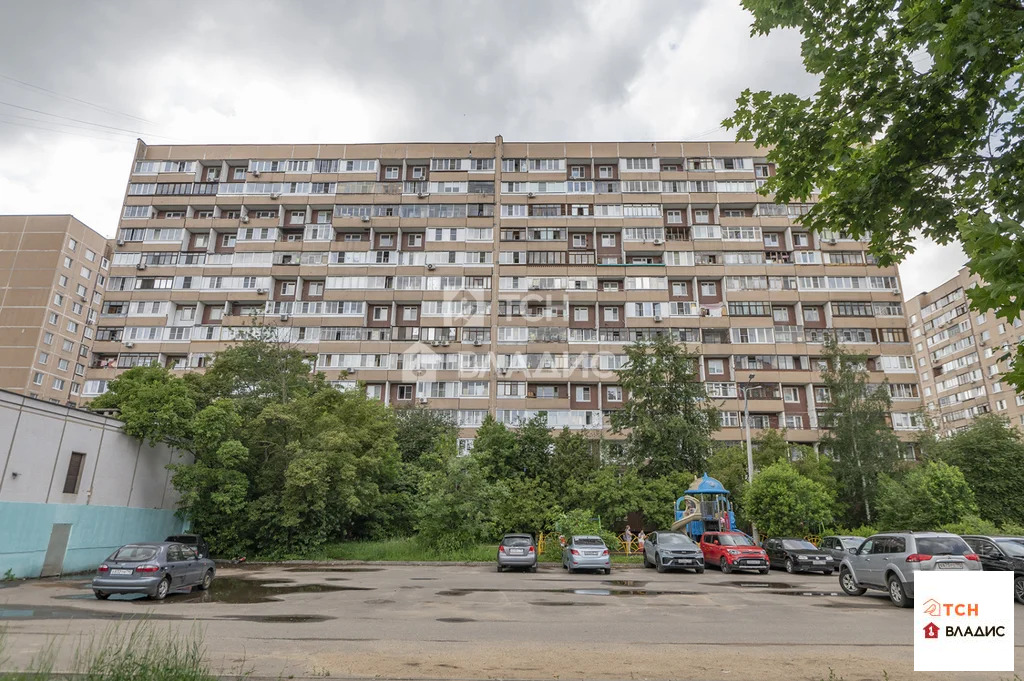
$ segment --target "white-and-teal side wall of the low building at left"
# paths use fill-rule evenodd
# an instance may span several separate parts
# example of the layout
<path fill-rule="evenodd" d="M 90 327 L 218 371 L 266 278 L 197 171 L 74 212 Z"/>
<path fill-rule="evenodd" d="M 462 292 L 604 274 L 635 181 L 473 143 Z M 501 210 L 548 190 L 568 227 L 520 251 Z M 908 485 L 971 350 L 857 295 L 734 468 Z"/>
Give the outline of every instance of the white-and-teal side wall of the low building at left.
<path fill-rule="evenodd" d="M 65 494 L 73 453 L 85 459 L 77 492 Z M 38 577 L 55 523 L 72 525 L 56 556 L 65 572 L 181 531 L 166 467 L 189 461 L 129 437 L 116 419 L 0 391 L 0 576 Z"/>

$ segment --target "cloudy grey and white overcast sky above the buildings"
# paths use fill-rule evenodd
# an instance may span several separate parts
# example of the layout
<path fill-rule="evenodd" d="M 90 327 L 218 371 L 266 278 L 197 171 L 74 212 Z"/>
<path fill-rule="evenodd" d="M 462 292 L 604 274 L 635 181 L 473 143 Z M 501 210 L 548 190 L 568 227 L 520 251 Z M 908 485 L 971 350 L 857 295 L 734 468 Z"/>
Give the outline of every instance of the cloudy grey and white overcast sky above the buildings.
<path fill-rule="evenodd" d="M 6 3 L 0 213 L 114 233 L 150 143 L 730 139 L 746 87 L 807 94 L 799 34 L 738 0 Z M 908 296 L 952 276 L 922 244 Z"/>

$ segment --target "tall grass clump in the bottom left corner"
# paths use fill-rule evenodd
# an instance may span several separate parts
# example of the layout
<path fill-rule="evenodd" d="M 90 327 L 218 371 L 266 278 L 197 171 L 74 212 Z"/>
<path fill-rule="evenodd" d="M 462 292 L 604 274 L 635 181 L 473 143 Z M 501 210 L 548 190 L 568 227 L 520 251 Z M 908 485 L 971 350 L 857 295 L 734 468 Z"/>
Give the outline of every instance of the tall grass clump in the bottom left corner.
<path fill-rule="evenodd" d="M 0 670 L 8 668 L 0 632 Z M 145 622 L 112 627 L 81 644 L 70 669 L 55 671 L 51 642 L 26 670 L 0 671 L 0 681 L 215 681 L 203 662 L 202 632 L 179 635 L 158 631 Z"/>

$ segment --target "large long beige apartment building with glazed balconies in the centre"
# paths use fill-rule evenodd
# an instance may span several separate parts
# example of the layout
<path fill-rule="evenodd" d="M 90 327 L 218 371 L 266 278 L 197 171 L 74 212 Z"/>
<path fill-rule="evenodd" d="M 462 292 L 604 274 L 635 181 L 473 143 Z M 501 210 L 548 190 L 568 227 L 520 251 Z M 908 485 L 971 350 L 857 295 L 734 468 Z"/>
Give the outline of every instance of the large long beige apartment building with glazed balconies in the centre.
<path fill-rule="evenodd" d="M 340 387 L 455 415 L 544 412 L 600 431 L 624 345 L 700 353 L 739 440 L 819 437 L 822 341 L 870 355 L 893 425 L 921 407 L 895 267 L 756 194 L 734 142 L 155 146 L 126 187 L 86 392 L 128 368 L 201 369 L 258 315 Z M 753 378 L 751 378 L 753 376 Z"/>

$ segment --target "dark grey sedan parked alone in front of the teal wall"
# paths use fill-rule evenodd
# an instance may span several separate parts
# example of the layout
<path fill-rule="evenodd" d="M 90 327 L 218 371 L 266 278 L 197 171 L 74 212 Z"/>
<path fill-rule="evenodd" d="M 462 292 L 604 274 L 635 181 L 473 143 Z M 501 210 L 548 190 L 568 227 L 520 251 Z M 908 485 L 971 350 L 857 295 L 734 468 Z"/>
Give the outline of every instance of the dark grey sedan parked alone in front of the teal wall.
<path fill-rule="evenodd" d="M 210 588 L 216 567 L 189 546 L 174 542 L 128 544 L 96 568 L 92 592 L 100 600 L 111 594 L 145 594 L 163 600 L 179 589 Z"/>

